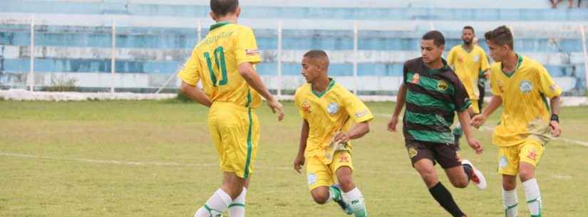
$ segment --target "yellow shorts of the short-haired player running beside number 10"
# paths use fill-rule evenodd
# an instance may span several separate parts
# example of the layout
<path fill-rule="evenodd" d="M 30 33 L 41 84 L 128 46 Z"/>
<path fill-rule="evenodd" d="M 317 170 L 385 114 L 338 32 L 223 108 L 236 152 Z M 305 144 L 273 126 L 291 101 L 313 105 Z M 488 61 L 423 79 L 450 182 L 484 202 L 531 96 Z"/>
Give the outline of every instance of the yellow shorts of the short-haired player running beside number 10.
<path fill-rule="evenodd" d="M 306 159 L 306 181 L 308 181 L 309 189 L 312 191 L 319 186 L 335 184 L 336 171 L 341 166 L 349 166 L 353 171 L 354 166 L 351 163 L 351 154 L 349 152 L 335 152 L 331 164 L 324 164 L 321 159 L 316 157 Z"/>

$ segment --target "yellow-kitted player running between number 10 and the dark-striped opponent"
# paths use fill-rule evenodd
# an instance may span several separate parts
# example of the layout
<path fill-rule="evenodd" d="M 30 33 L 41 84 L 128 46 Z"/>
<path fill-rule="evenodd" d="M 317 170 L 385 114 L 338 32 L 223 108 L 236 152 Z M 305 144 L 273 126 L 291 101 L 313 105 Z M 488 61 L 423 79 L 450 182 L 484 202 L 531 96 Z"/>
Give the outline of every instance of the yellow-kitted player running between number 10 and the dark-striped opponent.
<path fill-rule="evenodd" d="M 324 51 L 304 54 L 302 75 L 306 84 L 294 95 L 302 117 L 294 169 L 300 172 L 306 163 L 306 179 L 316 203 L 333 200 L 348 215 L 368 216 L 363 195 L 352 179 L 349 140 L 369 132 L 373 115 L 358 97 L 329 78 L 328 70 L 329 57 Z M 351 122 L 355 123 L 353 127 Z M 339 184 L 334 185 L 334 176 Z"/>

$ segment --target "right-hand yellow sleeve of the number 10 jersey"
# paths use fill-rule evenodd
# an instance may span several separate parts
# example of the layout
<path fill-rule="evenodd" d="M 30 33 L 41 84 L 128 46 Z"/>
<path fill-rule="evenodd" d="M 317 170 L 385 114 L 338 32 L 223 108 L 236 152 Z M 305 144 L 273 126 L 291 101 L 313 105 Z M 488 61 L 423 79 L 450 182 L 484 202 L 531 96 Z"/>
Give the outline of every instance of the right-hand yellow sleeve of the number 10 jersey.
<path fill-rule="evenodd" d="M 241 28 L 234 43 L 234 56 L 237 58 L 237 65 L 245 62 L 255 64 L 262 61 L 251 28 Z"/>

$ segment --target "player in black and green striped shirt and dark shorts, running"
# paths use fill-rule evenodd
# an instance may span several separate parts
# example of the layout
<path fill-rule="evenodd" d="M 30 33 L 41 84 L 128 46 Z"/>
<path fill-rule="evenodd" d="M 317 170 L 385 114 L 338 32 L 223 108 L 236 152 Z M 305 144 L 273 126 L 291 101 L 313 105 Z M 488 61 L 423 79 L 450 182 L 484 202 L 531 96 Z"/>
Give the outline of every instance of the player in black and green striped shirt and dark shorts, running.
<path fill-rule="evenodd" d="M 403 118 L 403 133 L 408 157 L 414 169 L 429 189 L 431 196 L 454 217 L 466 216 L 453 200 L 453 196 L 440 183 L 435 162 L 439 163 L 451 184 L 465 188 L 470 180 L 479 189 L 486 188 L 483 174 L 468 160 L 460 161 L 457 144 L 451 133 L 451 125 L 458 113 L 468 144 L 476 154 L 483 147 L 473 137 L 468 108 L 471 102 L 468 93 L 447 62 L 441 58 L 445 49 L 445 38 L 439 31 L 425 33 L 421 41 L 421 58 L 404 63 L 403 84 L 398 90 L 396 108 L 388 130 L 396 132 L 398 116 L 406 104 Z"/>

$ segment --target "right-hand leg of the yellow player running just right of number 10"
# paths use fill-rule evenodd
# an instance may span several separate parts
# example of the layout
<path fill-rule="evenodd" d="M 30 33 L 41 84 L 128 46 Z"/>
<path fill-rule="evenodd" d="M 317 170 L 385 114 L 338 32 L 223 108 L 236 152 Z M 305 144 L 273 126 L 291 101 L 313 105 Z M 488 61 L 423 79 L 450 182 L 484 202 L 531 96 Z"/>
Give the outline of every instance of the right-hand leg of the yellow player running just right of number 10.
<path fill-rule="evenodd" d="M 334 201 L 339 203 L 339 206 L 344 209 L 346 214 L 354 214 L 356 217 L 368 216 L 363 194 L 361 194 L 353 180 L 351 154 L 349 152 L 336 152 L 330 166 L 335 171 L 339 181 L 339 184 L 332 187 L 341 189 L 343 193 L 342 200 L 334 198 Z"/>

